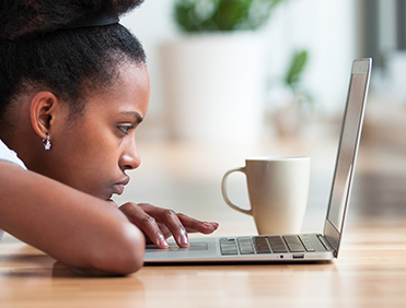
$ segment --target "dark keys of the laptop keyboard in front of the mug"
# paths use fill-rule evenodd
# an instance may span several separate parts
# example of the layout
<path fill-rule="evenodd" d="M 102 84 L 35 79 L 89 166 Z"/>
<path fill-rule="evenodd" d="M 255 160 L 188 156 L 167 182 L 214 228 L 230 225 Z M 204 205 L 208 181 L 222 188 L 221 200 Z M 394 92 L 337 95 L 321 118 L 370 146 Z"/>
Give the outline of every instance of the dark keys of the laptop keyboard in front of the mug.
<path fill-rule="evenodd" d="M 315 251 L 305 235 L 221 238 L 220 249 L 223 256 Z"/>

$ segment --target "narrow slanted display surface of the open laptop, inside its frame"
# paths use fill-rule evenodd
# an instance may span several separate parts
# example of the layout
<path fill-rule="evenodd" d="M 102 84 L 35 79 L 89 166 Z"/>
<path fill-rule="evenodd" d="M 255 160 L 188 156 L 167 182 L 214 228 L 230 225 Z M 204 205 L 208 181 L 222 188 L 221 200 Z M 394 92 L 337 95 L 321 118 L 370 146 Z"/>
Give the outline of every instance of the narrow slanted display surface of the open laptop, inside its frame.
<path fill-rule="evenodd" d="M 357 62 L 355 62 L 357 66 Z M 329 200 L 327 220 L 341 233 L 346 204 L 350 193 L 352 169 L 362 126 L 363 104 L 368 88 L 368 70 L 352 68 L 348 104 L 344 115 L 341 140 Z"/>

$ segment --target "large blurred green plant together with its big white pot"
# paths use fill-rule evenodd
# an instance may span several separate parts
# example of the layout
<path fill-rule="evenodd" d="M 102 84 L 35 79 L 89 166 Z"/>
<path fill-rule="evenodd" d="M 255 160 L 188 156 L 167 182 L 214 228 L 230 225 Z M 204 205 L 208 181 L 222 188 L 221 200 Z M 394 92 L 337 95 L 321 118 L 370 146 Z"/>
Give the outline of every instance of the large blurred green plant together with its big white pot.
<path fill-rule="evenodd" d="M 170 133 L 246 144 L 263 131 L 265 37 L 283 0 L 175 0 L 178 39 L 160 50 Z"/>

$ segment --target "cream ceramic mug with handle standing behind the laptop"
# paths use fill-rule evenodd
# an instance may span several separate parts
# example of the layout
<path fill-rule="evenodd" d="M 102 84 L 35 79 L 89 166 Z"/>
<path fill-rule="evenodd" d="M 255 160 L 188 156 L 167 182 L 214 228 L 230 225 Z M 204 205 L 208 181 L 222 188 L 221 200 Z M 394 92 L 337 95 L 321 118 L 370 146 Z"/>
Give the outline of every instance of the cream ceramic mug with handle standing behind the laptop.
<path fill-rule="evenodd" d="M 231 173 L 246 176 L 251 209 L 233 204 L 227 193 Z M 256 157 L 245 167 L 227 171 L 221 182 L 224 201 L 232 209 L 252 215 L 258 234 L 298 234 L 309 196 L 310 157 Z"/>

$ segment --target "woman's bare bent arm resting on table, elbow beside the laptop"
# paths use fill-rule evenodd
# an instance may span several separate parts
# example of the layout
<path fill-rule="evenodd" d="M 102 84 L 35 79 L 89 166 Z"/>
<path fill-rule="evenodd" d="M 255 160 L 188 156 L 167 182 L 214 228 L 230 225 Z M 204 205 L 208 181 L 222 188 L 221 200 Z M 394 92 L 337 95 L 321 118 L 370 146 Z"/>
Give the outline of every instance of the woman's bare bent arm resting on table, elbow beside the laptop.
<path fill-rule="evenodd" d="M 142 266 L 144 237 L 113 202 L 0 162 L 0 228 L 90 273 Z"/>

